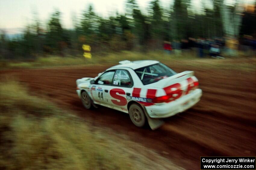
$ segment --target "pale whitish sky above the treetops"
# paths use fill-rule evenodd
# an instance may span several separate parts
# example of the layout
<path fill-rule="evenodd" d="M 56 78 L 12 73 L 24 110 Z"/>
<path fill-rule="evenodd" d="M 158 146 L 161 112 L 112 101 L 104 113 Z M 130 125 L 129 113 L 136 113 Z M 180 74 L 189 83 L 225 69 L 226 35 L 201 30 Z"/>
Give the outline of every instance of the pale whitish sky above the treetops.
<path fill-rule="evenodd" d="M 146 12 L 151 0 L 137 0 L 142 12 Z M 164 8 L 169 8 L 174 0 L 160 0 Z M 203 0 L 191 0 L 195 8 Z M 213 0 L 204 0 L 213 1 Z M 226 0 L 229 3 L 235 0 Z M 254 0 L 240 0 L 252 3 Z M 126 0 L 0 0 L 0 29 L 16 33 L 33 22 L 34 12 L 38 13 L 41 23 L 46 23 L 55 9 L 61 11 L 61 23 L 64 28 L 72 28 L 72 16 L 80 16 L 83 10 L 92 4 L 100 16 L 108 17 L 116 11 L 124 13 Z"/>

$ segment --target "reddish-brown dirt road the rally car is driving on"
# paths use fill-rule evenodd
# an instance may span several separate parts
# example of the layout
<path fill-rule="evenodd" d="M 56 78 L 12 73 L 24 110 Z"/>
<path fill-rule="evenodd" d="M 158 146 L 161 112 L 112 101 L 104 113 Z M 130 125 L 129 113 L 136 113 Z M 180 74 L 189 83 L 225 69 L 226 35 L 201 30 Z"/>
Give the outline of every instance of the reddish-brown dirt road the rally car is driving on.
<path fill-rule="evenodd" d="M 198 105 L 165 119 L 162 127 L 152 131 L 135 127 L 128 114 L 105 107 L 83 108 L 76 94 L 76 79 L 95 77 L 108 67 L 0 73 L 18 77 L 34 95 L 47 95 L 62 108 L 80 115 L 92 128 L 109 128 L 117 135 L 125 134 L 126 140 L 141 143 L 185 169 L 199 169 L 200 156 L 256 155 L 255 72 L 170 66 L 177 72 L 194 70 L 203 96 Z"/>

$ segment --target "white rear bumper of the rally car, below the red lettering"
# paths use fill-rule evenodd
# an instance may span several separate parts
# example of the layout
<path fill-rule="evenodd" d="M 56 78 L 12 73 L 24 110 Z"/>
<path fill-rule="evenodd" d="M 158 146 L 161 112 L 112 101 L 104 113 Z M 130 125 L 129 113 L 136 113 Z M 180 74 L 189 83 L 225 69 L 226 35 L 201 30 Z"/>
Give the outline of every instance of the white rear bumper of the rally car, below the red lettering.
<path fill-rule="evenodd" d="M 202 90 L 196 89 L 190 94 L 187 94 L 186 96 L 183 96 L 180 99 L 170 103 L 145 106 L 145 109 L 151 118 L 167 118 L 191 108 L 196 103 L 198 103 L 201 96 Z"/>

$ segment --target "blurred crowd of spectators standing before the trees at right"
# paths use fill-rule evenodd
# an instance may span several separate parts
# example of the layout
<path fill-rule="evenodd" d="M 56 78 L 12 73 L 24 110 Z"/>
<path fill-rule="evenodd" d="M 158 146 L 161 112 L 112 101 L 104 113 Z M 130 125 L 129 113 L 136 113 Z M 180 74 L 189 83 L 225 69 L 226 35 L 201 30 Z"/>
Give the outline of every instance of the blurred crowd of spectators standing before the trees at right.
<path fill-rule="evenodd" d="M 215 37 L 214 39 L 192 38 L 164 41 L 164 50 L 169 54 L 180 55 L 182 52 L 195 51 L 198 57 L 212 58 L 236 57 L 242 51 L 248 56 L 256 54 L 256 39 L 245 35 L 240 40 L 234 37 Z"/>

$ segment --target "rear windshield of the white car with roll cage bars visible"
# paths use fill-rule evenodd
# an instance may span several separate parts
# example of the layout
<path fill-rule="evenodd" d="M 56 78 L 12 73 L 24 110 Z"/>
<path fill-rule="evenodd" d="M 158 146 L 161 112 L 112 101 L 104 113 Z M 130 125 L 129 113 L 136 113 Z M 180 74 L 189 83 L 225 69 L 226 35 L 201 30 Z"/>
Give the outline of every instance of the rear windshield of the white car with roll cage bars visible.
<path fill-rule="evenodd" d="M 175 71 L 162 63 L 142 67 L 134 71 L 144 85 L 158 82 L 161 79 L 165 79 L 176 74 Z"/>

